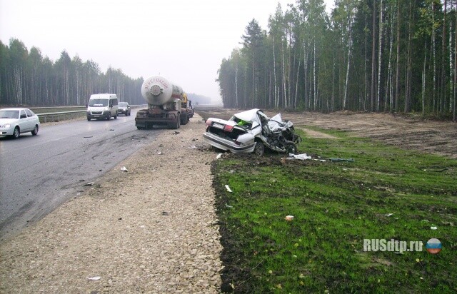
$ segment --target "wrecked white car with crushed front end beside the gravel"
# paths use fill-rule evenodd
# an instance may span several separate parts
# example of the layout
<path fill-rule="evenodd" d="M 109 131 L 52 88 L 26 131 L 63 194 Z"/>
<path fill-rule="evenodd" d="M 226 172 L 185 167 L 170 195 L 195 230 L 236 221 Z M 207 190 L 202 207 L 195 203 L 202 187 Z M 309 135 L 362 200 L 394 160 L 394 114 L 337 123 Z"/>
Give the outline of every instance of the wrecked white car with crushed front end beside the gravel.
<path fill-rule="evenodd" d="M 206 143 L 233 153 L 256 153 L 262 156 L 265 147 L 281 153 L 296 153 L 301 141 L 293 123 L 283 121 L 281 113 L 268 118 L 260 109 L 233 115 L 229 121 L 220 118 L 206 120 Z"/>

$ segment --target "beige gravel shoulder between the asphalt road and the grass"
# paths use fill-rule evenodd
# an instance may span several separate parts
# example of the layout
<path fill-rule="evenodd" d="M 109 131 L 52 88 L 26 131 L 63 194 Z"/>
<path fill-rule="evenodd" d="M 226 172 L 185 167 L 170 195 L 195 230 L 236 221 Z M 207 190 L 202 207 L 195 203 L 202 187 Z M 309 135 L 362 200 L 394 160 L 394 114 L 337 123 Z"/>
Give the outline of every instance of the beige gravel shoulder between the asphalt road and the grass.
<path fill-rule="evenodd" d="M 0 293 L 218 293 L 215 153 L 198 115 L 0 243 Z M 128 171 L 121 171 L 125 166 Z M 95 280 L 89 280 L 94 278 Z"/>

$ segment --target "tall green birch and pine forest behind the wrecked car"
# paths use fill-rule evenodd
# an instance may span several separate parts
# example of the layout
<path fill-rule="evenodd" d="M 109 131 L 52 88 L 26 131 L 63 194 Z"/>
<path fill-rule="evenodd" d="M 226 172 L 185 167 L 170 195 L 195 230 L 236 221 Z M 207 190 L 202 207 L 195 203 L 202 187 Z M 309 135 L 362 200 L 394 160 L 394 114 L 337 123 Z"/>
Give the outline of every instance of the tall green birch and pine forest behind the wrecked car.
<path fill-rule="evenodd" d="M 223 59 L 224 106 L 415 112 L 456 121 L 457 0 L 278 4 Z"/>

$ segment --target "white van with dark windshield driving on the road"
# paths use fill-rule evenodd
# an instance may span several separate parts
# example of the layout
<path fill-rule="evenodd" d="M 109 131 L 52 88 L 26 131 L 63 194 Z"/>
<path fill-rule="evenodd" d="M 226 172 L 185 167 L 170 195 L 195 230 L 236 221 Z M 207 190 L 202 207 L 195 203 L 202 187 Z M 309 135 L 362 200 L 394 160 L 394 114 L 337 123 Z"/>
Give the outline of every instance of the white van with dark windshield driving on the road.
<path fill-rule="evenodd" d="M 106 118 L 109 121 L 111 116 L 116 119 L 117 109 L 116 94 L 92 94 L 87 104 L 87 120 Z"/>

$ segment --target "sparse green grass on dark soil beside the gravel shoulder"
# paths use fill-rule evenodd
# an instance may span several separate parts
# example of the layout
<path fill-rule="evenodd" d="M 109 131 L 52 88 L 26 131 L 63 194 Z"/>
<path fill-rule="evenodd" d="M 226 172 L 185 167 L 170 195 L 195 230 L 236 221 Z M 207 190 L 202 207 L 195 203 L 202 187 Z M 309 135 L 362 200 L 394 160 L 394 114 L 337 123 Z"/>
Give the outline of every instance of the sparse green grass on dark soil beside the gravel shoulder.
<path fill-rule="evenodd" d="M 302 134 L 298 150 L 355 162 L 276 153 L 215 161 L 223 292 L 456 291 L 457 161 L 323 132 L 338 139 Z M 423 251 L 364 252 L 373 238 L 422 241 Z M 426 251 L 430 238 L 441 240 L 440 253 Z"/>

